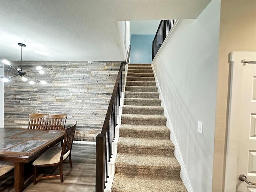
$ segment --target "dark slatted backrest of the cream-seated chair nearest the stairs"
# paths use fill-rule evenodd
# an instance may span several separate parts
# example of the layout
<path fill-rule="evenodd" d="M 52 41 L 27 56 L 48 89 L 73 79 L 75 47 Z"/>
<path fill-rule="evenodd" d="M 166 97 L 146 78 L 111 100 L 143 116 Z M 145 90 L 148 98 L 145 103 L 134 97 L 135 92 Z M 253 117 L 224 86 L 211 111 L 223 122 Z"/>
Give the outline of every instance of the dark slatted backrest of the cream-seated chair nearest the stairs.
<path fill-rule="evenodd" d="M 77 121 L 76 121 L 76 124 L 77 124 Z M 64 160 L 63 156 L 68 151 L 70 151 L 70 153 L 71 153 L 73 139 L 74 139 L 74 135 L 75 135 L 75 131 L 76 131 L 76 124 L 65 129 L 65 136 L 64 136 L 64 140 L 63 140 L 63 144 L 62 144 L 62 152 L 61 152 L 61 156 L 60 156 L 60 161 Z"/>

